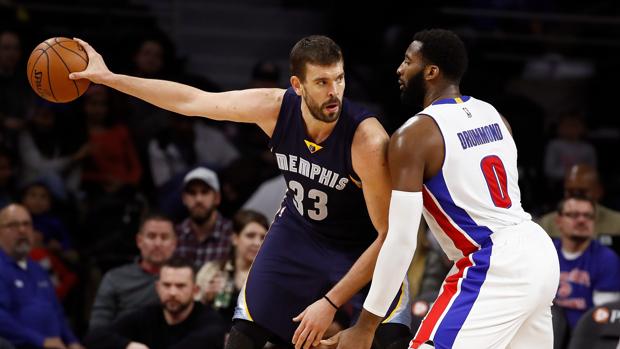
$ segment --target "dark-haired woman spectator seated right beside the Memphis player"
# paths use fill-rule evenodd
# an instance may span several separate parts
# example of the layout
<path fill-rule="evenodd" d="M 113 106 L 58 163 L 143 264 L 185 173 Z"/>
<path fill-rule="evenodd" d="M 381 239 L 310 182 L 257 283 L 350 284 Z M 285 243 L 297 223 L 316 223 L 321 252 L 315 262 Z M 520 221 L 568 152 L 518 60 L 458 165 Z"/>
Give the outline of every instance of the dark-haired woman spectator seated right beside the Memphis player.
<path fill-rule="evenodd" d="M 197 276 L 197 300 L 210 304 L 232 325 L 237 297 L 250 272 L 250 266 L 265 239 L 269 223 L 255 211 L 241 210 L 233 217 L 232 253 L 226 261 L 207 262 Z"/>

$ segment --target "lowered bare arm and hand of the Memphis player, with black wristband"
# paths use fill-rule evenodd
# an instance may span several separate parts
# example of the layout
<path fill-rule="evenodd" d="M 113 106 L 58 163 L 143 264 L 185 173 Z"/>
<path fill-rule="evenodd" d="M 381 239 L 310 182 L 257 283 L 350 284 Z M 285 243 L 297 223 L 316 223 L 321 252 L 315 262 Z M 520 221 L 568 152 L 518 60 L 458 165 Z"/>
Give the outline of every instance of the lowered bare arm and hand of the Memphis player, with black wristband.
<path fill-rule="evenodd" d="M 388 141 L 387 133 L 375 118 L 364 120 L 353 137 L 351 147 L 353 169 L 362 181 L 368 213 L 379 234 L 347 274 L 327 292 L 329 301 L 337 306 L 345 304 L 370 282 L 379 249 L 387 233 L 387 211 L 390 201 Z M 314 346 L 319 344 L 336 314 L 336 308 L 329 301 L 325 298 L 319 299 L 295 318 L 296 321 L 301 321 L 293 335 L 296 348 L 302 348 L 303 345 L 303 348 L 307 349 L 310 344 Z"/>

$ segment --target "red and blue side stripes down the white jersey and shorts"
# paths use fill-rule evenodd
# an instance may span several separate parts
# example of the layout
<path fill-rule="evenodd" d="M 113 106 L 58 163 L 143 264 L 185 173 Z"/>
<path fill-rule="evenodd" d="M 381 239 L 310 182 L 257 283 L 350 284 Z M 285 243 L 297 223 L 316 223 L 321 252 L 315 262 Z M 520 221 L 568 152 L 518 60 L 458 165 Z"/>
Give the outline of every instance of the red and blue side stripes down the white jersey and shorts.
<path fill-rule="evenodd" d="M 448 276 L 441 293 L 426 315 L 411 347 L 433 339 L 436 348 L 451 348 L 467 319 L 489 270 L 492 231 L 474 222 L 456 205 L 446 185 L 443 171 L 424 183 L 424 208 L 463 254 Z"/>

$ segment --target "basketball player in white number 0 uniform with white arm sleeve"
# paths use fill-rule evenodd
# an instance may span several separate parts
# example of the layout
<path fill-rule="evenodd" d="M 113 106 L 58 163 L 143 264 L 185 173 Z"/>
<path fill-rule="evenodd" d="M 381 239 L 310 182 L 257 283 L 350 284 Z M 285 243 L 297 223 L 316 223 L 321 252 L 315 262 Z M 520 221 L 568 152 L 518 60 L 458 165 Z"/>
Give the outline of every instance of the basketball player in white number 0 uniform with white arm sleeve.
<path fill-rule="evenodd" d="M 423 213 L 455 265 L 410 347 L 553 347 L 558 257 L 521 207 L 506 120 L 460 93 L 466 66 L 463 42 L 447 30 L 419 32 L 407 49 L 397 70 L 402 98 L 424 110 L 390 140 L 389 230 L 364 310 L 324 346 L 370 348 L 413 257 Z"/>

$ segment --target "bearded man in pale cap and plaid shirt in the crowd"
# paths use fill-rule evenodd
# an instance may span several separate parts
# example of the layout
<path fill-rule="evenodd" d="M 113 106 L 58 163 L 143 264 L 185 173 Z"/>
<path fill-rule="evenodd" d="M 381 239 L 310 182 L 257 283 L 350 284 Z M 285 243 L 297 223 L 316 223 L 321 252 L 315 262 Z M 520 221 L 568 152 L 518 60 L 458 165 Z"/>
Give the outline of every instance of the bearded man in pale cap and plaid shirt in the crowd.
<path fill-rule="evenodd" d="M 232 224 L 218 211 L 220 182 L 215 172 L 206 167 L 190 171 L 183 179 L 182 200 L 189 217 L 176 227 L 175 256 L 191 260 L 196 269 L 228 258 Z"/>

